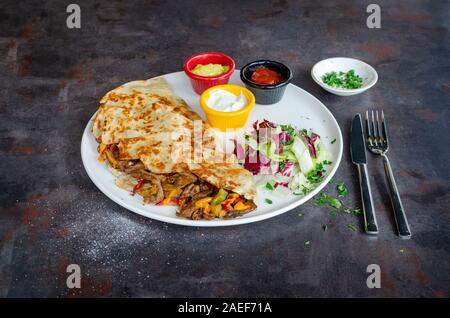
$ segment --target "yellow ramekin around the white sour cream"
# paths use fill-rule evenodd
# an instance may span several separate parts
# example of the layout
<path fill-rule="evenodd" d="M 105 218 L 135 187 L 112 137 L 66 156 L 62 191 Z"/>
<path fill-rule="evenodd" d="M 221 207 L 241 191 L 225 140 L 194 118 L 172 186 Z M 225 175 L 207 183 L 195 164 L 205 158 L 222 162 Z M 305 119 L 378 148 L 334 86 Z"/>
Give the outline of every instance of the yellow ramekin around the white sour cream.
<path fill-rule="evenodd" d="M 234 112 L 221 112 L 210 108 L 206 104 L 206 101 L 208 100 L 211 91 L 215 89 L 223 89 L 236 96 L 239 96 L 242 92 L 242 94 L 244 94 L 245 96 L 245 99 L 247 100 L 247 105 L 244 106 L 244 108 Z M 226 131 L 227 129 L 239 129 L 244 127 L 250 111 L 255 106 L 255 95 L 253 95 L 253 93 L 245 87 L 239 85 L 217 85 L 208 88 L 200 95 L 200 106 L 203 108 L 203 111 L 206 114 L 206 118 L 208 119 L 208 122 L 212 127 L 220 129 L 222 131 Z"/>

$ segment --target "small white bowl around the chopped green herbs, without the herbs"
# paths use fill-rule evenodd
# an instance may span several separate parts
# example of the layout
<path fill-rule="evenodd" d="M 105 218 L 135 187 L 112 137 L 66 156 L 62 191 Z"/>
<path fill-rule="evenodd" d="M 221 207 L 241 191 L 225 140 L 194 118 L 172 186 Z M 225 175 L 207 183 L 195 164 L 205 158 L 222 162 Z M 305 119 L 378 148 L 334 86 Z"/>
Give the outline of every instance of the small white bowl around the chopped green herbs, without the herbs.
<path fill-rule="evenodd" d="M 348 72 L 355 70 L 355 74 L 362 77 L 363 83 L 360 88 L 345 89 L 331 87 L 322 81 L 322 76 L 326 73 L 335 71 Z M 326 60 L 317 62 L 311 69 L 311 77 L 324 90 L 339 96 L 351 96 L 365 92 L 378 81 L 378 74 L 375 69 L 369 64 L 349 57 L 332 57 Z"/>

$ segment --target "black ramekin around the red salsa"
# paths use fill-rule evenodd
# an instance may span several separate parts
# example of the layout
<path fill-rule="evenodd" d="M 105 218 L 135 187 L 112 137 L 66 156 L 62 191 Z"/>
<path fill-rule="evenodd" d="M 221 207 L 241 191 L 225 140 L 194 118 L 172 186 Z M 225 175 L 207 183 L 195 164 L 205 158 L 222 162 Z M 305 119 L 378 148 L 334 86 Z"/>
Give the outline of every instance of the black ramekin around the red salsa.
<path fill-rule="evenodd" d="M 283 82 L 276 85 L 260 85 L 251 81 L 253 72 L 258 67 L 266 67 L 274 70 L 283 76 L 285 79 Z M 283 97 L 287 84 L 292 80 L 292 71 L 283 63 L 270 61 L 270 60 L 258 60 L 253 61 L 245 65 L 241 69 L 241 81 L 256 97 L 256 103 L 261 105 L 270 105 L 278 103 Z"/>

